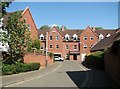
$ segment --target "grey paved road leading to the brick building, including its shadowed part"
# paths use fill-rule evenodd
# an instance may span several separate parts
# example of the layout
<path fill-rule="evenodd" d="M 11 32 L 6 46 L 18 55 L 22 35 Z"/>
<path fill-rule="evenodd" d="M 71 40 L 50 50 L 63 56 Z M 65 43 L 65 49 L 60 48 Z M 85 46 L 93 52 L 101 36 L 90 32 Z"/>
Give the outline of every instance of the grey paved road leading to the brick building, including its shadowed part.
<path fill-rule="evenodd" d="M 37 71 L 3 76 L 3 87 L 120 88 L 104 71 L 91 70 L 79 61 L 56 62 Z"/>

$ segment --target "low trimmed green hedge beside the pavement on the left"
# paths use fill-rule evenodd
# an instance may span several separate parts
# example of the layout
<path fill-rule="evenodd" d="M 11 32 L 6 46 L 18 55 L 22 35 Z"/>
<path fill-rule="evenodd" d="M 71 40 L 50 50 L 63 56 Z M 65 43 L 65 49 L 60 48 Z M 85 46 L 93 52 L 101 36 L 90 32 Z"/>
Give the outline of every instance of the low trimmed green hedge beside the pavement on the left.
<path fill-rule="evenodd" d="M 12 65 L 2 64 L 2 74 L 3 75 L 17 74 L 21 72 L 38 70 L 39 68 L 40 68 L 40 63 L 24 64 L 17 62 L 16 64 L 12 64 Z"/>

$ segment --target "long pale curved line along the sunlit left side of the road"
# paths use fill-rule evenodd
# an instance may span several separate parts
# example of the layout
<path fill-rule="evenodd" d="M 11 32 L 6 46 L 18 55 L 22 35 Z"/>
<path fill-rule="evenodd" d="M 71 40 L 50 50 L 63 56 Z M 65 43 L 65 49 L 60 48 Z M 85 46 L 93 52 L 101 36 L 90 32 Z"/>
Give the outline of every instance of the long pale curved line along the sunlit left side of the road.
<path fill-rule="evenodd" d="M 48 72 L 48 73 L 43 74 L 43 75 L 40 75 L 40 76 L 38 76 L 38 77 L 31 78 L 31 79 L 28 79 L 28 80 L 24 80 L 24 81 L 21 81 L 21 82 L 17 82 L 17 83 L 14 83 L 14 84 L 6 85 L 6 86 L 3 86 L 3 87 L 10 87 L 10 86 L 18 85 L 18 84 L 21 84 L 21 83 L 24 83 L 24 82 L 27 82 L 27 81 L 31 81 L 31 80 L 37 79 L 37 78 L 41 78 L 41 77 L 43 77 L 43 76 L 46 76 L 46 75 L 48 75 L 48 74 L 50 74 L 50 73 L 55 72 L 55 71 L 58 70 L 62 65 L 63 65 L 63 63 L 62 63 L 61 65 L 59 65 L 58 68 L 54 69 L 53 71 Z"/>

